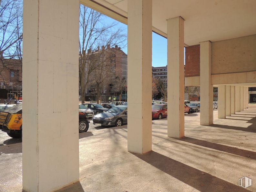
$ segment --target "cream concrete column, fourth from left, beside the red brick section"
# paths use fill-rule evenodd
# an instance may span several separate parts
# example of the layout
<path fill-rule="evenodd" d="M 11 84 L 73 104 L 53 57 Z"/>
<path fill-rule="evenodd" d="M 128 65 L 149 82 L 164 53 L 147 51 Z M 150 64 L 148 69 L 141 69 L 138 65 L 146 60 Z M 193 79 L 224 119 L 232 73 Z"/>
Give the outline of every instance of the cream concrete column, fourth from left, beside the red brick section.
<path fill-rule="evenodd" d="M 211 42 L 200 42 L 200 125 L 213 124 L 213 85 L 211 85 Z"/>

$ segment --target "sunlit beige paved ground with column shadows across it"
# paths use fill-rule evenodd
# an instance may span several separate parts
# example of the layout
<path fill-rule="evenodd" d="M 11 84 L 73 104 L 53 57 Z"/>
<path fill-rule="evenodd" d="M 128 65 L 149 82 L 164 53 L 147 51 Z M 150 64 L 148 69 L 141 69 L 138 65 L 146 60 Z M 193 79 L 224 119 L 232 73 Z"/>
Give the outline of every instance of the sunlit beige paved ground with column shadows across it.
<path fill-rule="evenodd" d="M 185 115 L 185 137 L 167 137 L 167 119 L 152 121 L 152 149 L 127 152 L 127 128 L 79 134 L 80 182 L 61 191 L 256 191 L 256 109 L 200 126 Z M 21 191 L 21 143 L 0 146 L 0 191 Z M 12 162 L 6 164 L 6 162 Z M 252 186 L 243 189 L 238 179 Z"/>

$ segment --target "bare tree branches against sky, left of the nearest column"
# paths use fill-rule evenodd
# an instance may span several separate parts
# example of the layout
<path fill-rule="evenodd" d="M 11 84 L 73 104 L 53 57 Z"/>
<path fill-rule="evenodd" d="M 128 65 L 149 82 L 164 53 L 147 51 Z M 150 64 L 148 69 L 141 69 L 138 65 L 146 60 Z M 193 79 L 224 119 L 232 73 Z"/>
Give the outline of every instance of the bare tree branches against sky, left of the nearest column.
<path fill-rule="evenodd" d="M 4 83 L 4 70 L 21 76 L 22 4 L 22 0 L 0 0 L 0 75 Z"/>

